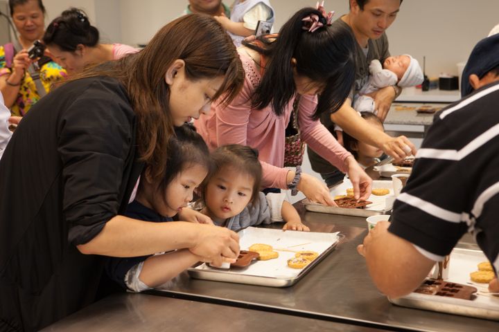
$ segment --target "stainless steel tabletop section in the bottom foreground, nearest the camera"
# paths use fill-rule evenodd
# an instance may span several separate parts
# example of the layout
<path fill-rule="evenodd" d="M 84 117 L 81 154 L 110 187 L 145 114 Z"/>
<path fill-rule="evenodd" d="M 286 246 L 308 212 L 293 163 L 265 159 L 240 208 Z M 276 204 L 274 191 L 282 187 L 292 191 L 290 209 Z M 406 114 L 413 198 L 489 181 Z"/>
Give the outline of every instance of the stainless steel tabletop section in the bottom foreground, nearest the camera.
<path fill-rule="evenodd" d="M 112 295 L 44 332 L 381 331 L 306 317 L 145 294 Z"/>

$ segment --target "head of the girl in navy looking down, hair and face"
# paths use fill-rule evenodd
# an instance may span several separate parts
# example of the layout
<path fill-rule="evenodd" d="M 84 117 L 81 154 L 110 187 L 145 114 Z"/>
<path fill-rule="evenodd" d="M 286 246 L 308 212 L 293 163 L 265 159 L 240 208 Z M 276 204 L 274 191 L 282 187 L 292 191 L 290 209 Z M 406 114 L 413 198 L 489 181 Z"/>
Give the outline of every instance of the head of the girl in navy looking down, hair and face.
<path fill-rule="evenodd" d="M 141 175 L 137 200 L 162 216 L 175 216 L 192 201 L 193 192 L 211 169 L 209 150 L 191 124 L 175 127 L 168 141 L 166 172 L 154 178 L 154 165 Z"/>

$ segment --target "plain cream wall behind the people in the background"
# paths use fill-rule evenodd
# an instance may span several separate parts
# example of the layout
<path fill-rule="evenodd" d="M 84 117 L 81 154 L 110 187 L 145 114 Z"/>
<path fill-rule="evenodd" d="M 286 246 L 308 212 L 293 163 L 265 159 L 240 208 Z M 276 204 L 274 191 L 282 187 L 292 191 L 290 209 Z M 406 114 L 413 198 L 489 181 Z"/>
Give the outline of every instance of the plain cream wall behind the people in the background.
<path fill-rule="evenodd" d="M 227 0 L 231 3 L 232 0 Z M 187 0 L 44 0 L 47 23 L 69 6 L 84 8 L 105 41 L 143 44 L 155 32 L 182 14 Z M 275 28 L 312 0 L 271 0 Z M 348 0 L 326 0 L 335 17 L 348 12 Z M 455 64 L 465 61 L 471 48 L 499 23 L 498 0 L 405 0 L 394 24 L 387 30 L 392 54 L 426 55 L 426 72 L 457 74 Z"/>

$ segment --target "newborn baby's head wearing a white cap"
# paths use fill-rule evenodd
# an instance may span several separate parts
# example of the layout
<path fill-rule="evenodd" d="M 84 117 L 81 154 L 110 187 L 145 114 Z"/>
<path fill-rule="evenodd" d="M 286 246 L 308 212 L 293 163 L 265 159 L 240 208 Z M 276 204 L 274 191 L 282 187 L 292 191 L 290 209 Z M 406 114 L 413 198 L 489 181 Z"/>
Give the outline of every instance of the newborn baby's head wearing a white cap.
<path fill-rule="evenodd" d="M 419 62 L 408 54 L 387 57 L 383 68 L 392 71 L 397 76 L 398 86 L 414 86 L 423 83 L 423 71 Z"/>

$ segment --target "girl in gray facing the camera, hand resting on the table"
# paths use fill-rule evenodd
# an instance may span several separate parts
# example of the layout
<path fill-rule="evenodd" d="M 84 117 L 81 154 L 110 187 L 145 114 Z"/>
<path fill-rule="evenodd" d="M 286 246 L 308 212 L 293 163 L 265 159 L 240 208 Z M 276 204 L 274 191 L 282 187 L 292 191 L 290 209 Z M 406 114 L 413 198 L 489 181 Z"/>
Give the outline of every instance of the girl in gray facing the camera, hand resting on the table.
<path fill-rule="evenodd" d="M 310 230 L 301 223 L 286 194 L 260 191 L 262 167 L 259 153 L 243 145 L 225 145 L 211 153 L 213 171 L 204 180 L 196 202 L 218 226 L 238 231 L 255 225 L 284 221 L 283 230 Z"/>

